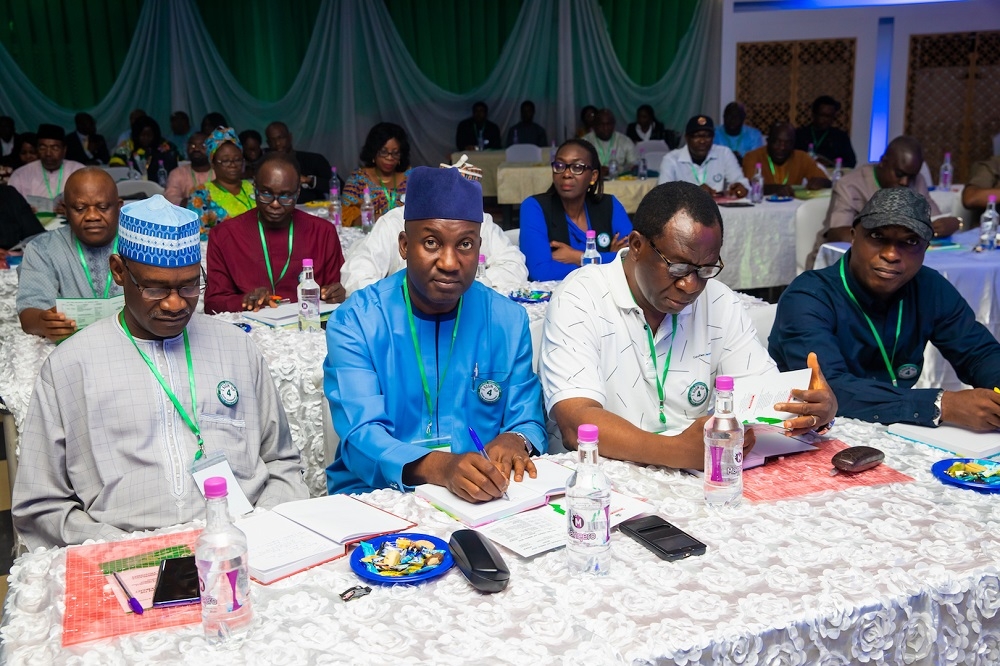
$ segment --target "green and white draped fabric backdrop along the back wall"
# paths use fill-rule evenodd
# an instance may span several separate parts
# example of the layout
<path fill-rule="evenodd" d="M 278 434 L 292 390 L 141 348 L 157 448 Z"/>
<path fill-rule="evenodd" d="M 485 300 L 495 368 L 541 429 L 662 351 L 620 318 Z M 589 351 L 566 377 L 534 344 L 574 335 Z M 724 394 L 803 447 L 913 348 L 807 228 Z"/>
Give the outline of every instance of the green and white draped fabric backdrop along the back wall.
<path fill-rule="evenodd" d="M 643 103 L 674 128 L 719 108 L 722 0 L 605 0 L 603 9 L 598 0 L 36 2 L 44 14 L 0 0 L 0 15 L 11 17 L 0 26 L 0 114 L 22 130 L 69 128 L 86 110 L 113 139 L 136 107 L 164 133 L 173 110 L 188 111 L 195 125 L 221 111 L 237 130 L 284 120 L 296 147 L 343 171 L 379 121 L 407 128 L 415 164 L 437 164 L 478 99 L 502 129 L 533 100 L 536 121 L 557 140 L 572 135 L 584 104 L 611 108 L 619 129 Z M 475 9 L 459 12 L 460 4 Z M 113 15 L 101 29 L 87 18 L 99 10 Z M 6 48 L 25 44 L 51 52 L 65 73 L 36 85 Z"/>

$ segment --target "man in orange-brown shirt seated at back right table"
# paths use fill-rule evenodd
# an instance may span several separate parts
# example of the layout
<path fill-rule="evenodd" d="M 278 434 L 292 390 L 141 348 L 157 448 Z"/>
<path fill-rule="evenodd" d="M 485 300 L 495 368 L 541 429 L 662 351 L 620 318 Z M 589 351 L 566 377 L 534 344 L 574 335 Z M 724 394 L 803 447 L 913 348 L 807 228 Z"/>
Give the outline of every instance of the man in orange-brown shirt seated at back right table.
<path fill-rule="evenodd" d="M 718 136 L 718 133 L 716 133 Z M 791 123 L 774 123 L 767 134 L 767 145 L 751 150 L 743 158 L 743 174 L 753 178 L 760 165 L 764 176 L 764 194 L 790 197 L 793 185 L 806 184 L 806 189 L 830 187 L 830 179 L 809 157 L 795 150 L 795 128 Z"/>

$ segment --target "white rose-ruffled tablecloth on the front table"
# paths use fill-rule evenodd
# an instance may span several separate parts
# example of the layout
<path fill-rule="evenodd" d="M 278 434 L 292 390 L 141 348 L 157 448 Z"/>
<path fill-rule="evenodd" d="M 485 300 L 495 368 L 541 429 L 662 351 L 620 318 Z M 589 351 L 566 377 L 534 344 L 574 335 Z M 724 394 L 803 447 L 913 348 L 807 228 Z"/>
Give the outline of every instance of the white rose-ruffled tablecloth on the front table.
<path fill-rule="evenodd" d="M 604 578 L 570 574 L 564 553 L 501 549 L 510 586 L 484 595 L 452 570 L 419 586 L 360 581 L 341 559 L 253 586 L 257 625 L 242 652 L 211 652 L 200 627 L 61 650 L 65 551 L 22 556 L 0 628 L 10 664 L 972 664 L 1000 663 L 1000 505 L 933 478 L 941 451 L 876 426 L 834 433 L 871 444 L 913 483 L 708 509 L 701 481 L 607 462 L 616 489 L 702 540 L 663 562 L 612 535 Z M 564 456 L 565 457 L 565 456 Z M 363 499 L 447 537 L 459 525 L 412 494 Z"/>

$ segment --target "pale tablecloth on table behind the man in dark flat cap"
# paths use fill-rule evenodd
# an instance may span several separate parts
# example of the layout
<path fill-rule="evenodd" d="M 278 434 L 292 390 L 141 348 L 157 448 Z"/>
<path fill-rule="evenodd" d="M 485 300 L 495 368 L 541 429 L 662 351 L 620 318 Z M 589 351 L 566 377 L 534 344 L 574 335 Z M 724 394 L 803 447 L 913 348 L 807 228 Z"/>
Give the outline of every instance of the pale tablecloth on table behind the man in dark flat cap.
<path fill-rule="evenodd" d="M 947 193 L 945 193 L 947 194 Z M 993 337 L 1000 340 L 1000 252 L 973 252 L 979 230 L 971 229 L 955 234 L 954 240 L 962 245 L 960 250 L 928 250 L 924 265 L 933 268 L 955 285 L 969 307 L 976 313 L 976 320 L 983 324 Z M 849 243 L 826 243 L 816 255 L 816 268 L 832 266 L 850 247 Z M 944 388 L 958 391 L 968 388 L 955 374 L 954 368 L 932 344 L 924 351 L 924 367 L 916 388 Z"/>

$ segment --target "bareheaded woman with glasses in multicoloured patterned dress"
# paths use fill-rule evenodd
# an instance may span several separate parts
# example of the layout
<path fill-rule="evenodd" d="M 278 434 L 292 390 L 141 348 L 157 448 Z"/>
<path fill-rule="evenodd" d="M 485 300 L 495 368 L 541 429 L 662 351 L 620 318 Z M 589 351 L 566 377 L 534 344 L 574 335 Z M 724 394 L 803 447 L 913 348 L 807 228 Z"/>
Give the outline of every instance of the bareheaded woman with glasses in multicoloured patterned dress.
<path fill-rule="evenodd" d="M 361 148 L 361 163 L 364 166 L 352 173 L 344 185 L 341 202 L 345 226 L 360 224 L 366 187 L 375 206 L 376 220 L 403 205 L 410 168 L 410 141 L 406 138 L 406 130 L 395 123 L 379 123 L 372 127 Z"/>

